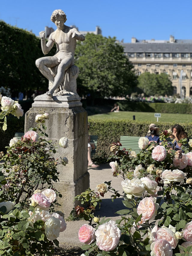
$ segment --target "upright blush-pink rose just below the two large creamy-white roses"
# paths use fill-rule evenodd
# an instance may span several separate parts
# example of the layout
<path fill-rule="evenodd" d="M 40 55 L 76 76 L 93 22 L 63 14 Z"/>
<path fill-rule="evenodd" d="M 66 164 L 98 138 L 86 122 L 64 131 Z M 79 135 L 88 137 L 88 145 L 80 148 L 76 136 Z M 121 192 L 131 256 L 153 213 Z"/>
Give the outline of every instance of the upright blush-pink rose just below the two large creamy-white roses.
<path fill-rule="evenodd" d="M 154 203 L 153 197 L 143 198 L 137 207 L 138 215 L 142 214 L 141 221 L 153 220 L 157 214 L 158 207 L 158 204 Z"/>

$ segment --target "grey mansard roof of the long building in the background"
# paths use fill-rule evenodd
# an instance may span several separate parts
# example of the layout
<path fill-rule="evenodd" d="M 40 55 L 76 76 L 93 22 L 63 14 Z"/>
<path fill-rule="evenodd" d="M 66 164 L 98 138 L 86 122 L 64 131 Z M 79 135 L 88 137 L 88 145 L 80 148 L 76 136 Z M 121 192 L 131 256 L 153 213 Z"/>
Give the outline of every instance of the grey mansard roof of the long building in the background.
<path fill-rule="evenodd" d="M 192 53 L 191 43 L 122 43 L 127 53 Z"/>

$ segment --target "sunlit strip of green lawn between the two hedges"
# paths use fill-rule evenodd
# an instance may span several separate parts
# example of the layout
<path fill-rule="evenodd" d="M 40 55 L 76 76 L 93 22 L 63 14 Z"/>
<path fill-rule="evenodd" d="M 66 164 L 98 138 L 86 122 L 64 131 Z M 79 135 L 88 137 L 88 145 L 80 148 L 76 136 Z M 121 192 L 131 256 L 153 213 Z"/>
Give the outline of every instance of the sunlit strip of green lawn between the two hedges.
<path fill-rule="evenodd" d="M 120 111 L 119 113 L 109 112 L 105 114 L 97 114 L 88 116 L 89 120 L 103 120 L 103 119 L 131 119 L 137 121 L 150 121 L 151 123 L 156 123 L 157 118 L 154 117 L 154 113 L 151 112 L 132 112 L 132 111 Z M 170 113 L 161 113 L 161 118 L 159 122 L 175 122 L 175 123 L 184 123 L 192 122 L 192 114 L 170 114 Z"/>

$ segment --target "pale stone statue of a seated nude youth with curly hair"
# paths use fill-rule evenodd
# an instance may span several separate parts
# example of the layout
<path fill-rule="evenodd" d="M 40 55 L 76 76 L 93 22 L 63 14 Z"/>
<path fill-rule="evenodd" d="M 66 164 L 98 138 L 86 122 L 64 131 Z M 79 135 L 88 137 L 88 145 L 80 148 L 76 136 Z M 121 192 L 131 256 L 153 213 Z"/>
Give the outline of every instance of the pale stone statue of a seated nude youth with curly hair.
<path fill-rule="evenodd" d="M 51 21 L 57 29 L 51 33 L 46 44 L 45 32 L 39 33 L 41 38 L 41 49 L 44 54 L 49 53 L 54 43 L 57 50 L 54 56 L 37 59 L 35 64 L 40 72 L 49 80 L 49 91 L 46 95 L 76 94 L 76 78 L 79 68 L 74 65 L 74 53 L 76 40 L 84 41 L 85 37 L 76 28 L 64 25 L 67 20 L 62 10 L 52 13 Z"/>

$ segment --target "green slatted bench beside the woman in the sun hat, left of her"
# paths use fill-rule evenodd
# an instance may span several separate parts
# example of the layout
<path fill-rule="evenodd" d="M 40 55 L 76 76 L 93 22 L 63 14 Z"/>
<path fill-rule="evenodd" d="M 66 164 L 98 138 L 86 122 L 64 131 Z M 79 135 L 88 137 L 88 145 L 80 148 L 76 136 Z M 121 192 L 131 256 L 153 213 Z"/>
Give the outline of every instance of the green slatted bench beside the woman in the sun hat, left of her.
<path fill-rule="evenodd" d="M 121 136 L 120 143 L 122 146 L 120 146 L 120 149 L 131 149 L 138 154 L 141 151 L 138 145 L 139 138 L 138 136 Z"/>

